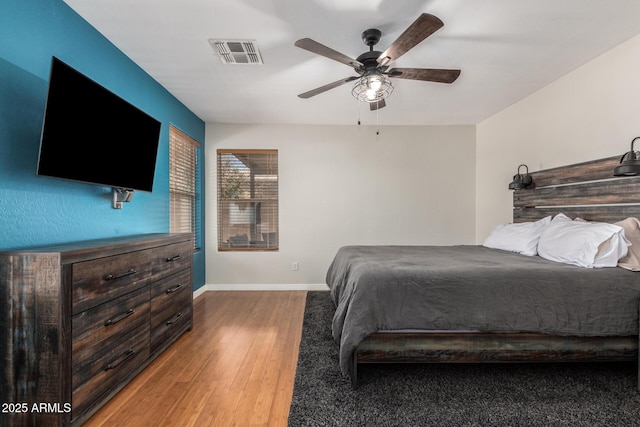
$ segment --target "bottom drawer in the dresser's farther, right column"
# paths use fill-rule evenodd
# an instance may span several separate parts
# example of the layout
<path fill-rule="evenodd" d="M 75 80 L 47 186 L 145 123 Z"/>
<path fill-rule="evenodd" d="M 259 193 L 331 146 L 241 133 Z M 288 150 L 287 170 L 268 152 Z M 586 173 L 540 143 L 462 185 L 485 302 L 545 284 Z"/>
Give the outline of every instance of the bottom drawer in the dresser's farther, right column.
<path fill-rule="evenodd" d="M 192 317 L 191 301 L 181 307 L 169 306 L 151 316 L 151 353 L 168 346 L 190 329 Z"/>

